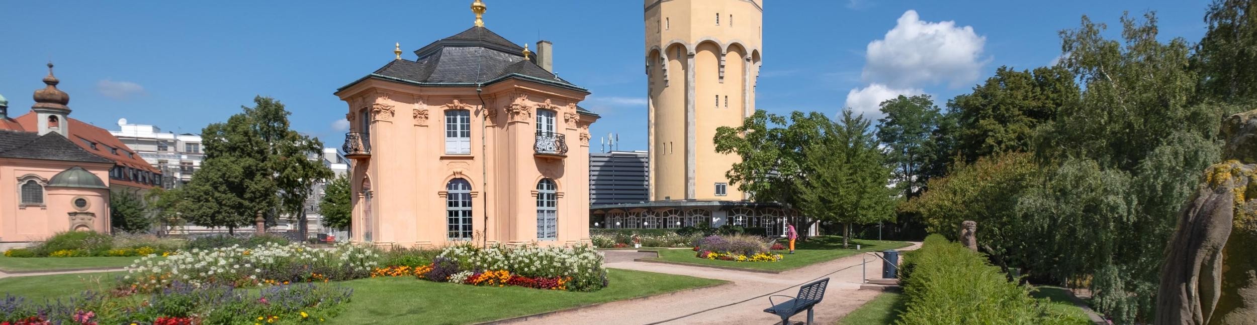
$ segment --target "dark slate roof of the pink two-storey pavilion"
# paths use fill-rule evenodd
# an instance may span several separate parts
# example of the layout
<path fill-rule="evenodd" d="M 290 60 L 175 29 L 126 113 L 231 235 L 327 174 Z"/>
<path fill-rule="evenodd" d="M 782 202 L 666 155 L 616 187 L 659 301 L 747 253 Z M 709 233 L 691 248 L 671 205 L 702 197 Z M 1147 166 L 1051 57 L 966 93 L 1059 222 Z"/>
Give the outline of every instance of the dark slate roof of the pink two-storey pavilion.
<path fill-rule="evenodd" d="M 474 26 L 415 50 L 417 60 L 392 60 L 375 73 L 337 90 L 344 90 L 368 78 L 427 87 L 471 87 L 478 83 L 491 84 L 519 78 L 588 93 L 587 89 L 537 65 L 533 61 L 535 56 L 524 59 L 523 51 L 523 46 L 502 35 L 486 28 Z M 593 114 L 585 108 L 578 110 Z"/>

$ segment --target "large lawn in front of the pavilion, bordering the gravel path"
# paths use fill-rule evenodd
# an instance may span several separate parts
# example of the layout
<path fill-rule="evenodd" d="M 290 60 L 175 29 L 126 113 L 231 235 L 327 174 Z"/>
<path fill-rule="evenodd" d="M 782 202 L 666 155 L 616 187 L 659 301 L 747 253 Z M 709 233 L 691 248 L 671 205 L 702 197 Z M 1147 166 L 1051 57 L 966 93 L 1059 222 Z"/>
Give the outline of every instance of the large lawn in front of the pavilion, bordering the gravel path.
<path fill-rule="evenodd" d="M 414 277 L 342 282 L 353 301 L 328 324 L 470 324 L 710 286 L 722 280 L 608 269 L 610 285 L 595 292 L 481 287 Z"/>

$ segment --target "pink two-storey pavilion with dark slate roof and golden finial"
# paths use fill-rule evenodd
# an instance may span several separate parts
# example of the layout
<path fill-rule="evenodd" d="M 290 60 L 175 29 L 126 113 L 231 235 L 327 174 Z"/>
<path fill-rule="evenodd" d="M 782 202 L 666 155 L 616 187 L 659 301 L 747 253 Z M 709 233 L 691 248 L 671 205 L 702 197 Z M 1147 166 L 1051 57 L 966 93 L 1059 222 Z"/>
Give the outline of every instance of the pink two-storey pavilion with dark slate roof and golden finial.
<path fill-rule="evenodd" d="M 348 104 L 357 242 L 588 242 L 590 94 L 535 53 L 475 24 L 337 89 Z"/>

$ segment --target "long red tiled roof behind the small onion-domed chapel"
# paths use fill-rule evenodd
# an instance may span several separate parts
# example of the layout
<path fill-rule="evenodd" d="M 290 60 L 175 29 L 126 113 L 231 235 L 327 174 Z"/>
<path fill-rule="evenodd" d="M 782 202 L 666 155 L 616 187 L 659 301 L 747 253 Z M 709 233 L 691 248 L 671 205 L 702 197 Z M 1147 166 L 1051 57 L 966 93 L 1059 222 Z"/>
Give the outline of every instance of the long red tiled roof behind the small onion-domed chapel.
<path fill-rule="evenodd" d="M 15 120 L 18 122 L 18 124 L 20 124 L 20 127 L 25 129 L 39 129 L 39 125 L 35 124 L 34 112 L 28 112 L 26 114 L 18 117 Z M 104 157 L 106 159 L 113 161 L 113 163 L 118 166 L 126 166 L 141 171 L 161 173 L 160 169 L 153 168 L 153 166 L 148 164 L 148 162 L 146 162 L 145 158 L 140 157 L 140 153 L 132 151 L 129 147 L 127 147 L 127 144 L 123 144 L 122 141 L 119 141 L 117 137 L 113 137 L 113 134 L 109 134 L 109 131 L 98 128 L 96 125 L 69 117 L 67 117 L 65 120 L 68 120 L 70 129 L 70 134 L 67 138 L 70 139 L 70 142 L 73 142 L 74 144 L 79 146 L 79 148 L 83 148 L 87 152 L 91 152 L 96 156 Z M 96 148 L 93 149 L 92 144 L 83 142 L 84 139 L 96 143 L 97 144 Z M 117 148 L 118 153 L 116 154 L 112 153 L 109 151 L 111 147 Z M 123 186 L 141 187 L 141 188 L 156 187 L 152 184 L 143 184 L 123 179 L 109 179 L 109 183 L 121 183 Z"/>

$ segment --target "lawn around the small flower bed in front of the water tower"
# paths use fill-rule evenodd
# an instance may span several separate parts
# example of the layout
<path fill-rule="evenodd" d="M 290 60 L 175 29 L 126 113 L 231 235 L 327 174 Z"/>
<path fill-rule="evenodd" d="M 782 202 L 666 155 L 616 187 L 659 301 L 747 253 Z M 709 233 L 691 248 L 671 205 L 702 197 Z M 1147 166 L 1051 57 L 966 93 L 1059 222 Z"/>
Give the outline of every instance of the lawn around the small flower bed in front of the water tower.
<path fill-rule="evenodd" d="M 861 245 L 860 251 L 856 251 L 856 243 Z M 794 253 L 787 253 L 789 251 L 773 251 L 773 253 L 781 253 L 784 256 L 781 261 L 776 262 L 735 262 L 735 261 L 719 261 L 719 260 L 704 260 L 695 257 L 693 250 L 659 250 L 659 261 L 667 262 L 680 262 L 680 264 L 696 264 L 696 265 L 713 265 L 713 266 L 725 266 L 737 269 L 750 269 L 750 270 L 763 270 L 763 271 L 784 271 L 791 269 L 798 269 L 818 262 L 831 261 L 835 258 L 847 257 L 857 252 L 867 251 L 884 251 L 908 247 L 911 243 L 901 241 L 874 241 L 874 240 L 851 240 L 850 248 L 842 248 L 841 236 L 818 236 L 811 237 L 807 242 L 796 242 Z M 870 257 L 876 258 L 876 257 Z M 877 264 L 880 265 L 880 262 Z"/>

